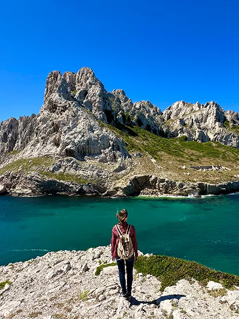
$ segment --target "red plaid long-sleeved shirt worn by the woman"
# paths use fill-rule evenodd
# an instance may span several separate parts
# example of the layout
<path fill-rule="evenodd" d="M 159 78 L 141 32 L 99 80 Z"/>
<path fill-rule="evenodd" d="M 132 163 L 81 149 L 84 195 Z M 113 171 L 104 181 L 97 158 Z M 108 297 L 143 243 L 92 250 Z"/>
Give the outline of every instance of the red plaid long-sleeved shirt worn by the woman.
<path fill-rule="evenodd" d="M 122 234 L 126 234 L 128 223 L 122 223 L 118 224 L 119 229 L 121 230 Z M 135 228 L 133 225 L 131 225 L 129 236 L 131 237 L 132 244 L 133 244 L 133 250 L 135 257 L 138 256 L 138 248 L 137 248 L 137 241 L 136 241 L 136 234 L 135 234 Z M 116 229 L 116 226 L 112 229 L 112 238 L 111 238 L 111 254 L 112 258 L 119 257 L 117 254 L 117 248 L 119 244 L 119 233 Z"/>

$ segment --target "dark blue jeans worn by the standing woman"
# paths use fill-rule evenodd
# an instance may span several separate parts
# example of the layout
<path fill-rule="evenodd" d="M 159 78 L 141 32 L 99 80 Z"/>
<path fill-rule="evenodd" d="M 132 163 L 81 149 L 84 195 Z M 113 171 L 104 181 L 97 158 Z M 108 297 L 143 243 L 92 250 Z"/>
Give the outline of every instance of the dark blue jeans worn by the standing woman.
<path fill-rule="evenodd" d="M 126 295 L 126 293 L 131 295 L 132 289 L 132 282 L 133 282 L 133 261 L 134 255 L 127 259 L 123 260 L 120 258 L 116 258 L 118 268 L 119 268 L 119 282 L 122 288 L 122 294 Z M 126 283 L 125 283 L 125 268 L 124 268 L 124 261 L 126 264 L 126 272 L 127 272 L 127 290 L 126 290 Z"/>

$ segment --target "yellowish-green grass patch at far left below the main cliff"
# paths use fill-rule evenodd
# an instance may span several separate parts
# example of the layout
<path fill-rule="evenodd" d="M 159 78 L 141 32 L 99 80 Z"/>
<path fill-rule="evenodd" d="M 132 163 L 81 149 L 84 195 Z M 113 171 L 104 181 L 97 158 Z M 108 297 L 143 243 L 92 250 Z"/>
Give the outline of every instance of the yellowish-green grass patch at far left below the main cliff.
<path fill-rule="evenodd" d="M 6 164 L 2 168 L 0 168 L 0 175 L 4 174 L 7 171 L 17 171 L 20 166 L 22 170 L 28 172 L 36 170 L 37 168 L 42 166 L 51 166 L 53 162 L 54 160 L 52 158 L 47 157 L 14 160 L 11 163 Z"/>

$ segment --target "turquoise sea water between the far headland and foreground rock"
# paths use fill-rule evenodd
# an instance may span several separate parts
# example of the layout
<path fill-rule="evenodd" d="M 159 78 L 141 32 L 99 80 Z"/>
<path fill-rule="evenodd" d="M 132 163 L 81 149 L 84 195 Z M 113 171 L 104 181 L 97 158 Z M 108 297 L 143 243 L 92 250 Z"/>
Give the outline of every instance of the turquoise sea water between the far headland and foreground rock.
<path fill-rule="evenodd" d="M 0 265 L 110 244 L 128 210 L 138 249 L 239 275 L 239 194 L 205 198 L 0 197 Z"/>

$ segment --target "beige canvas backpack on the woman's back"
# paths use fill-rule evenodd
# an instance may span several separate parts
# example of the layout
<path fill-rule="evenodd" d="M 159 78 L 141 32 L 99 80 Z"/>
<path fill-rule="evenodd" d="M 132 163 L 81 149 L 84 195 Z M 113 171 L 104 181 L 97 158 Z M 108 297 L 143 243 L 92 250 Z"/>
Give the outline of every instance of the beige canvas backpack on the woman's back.
<path fill-rule="evenodd" d="M 133 243 L 129 236 L 131 225 L 128 225 L 126 234 L 123 234 L 119 229 L 119 225 L 116 225 L 116 229 L 119 233 L 119 244 L 118 244 L 118 256 L 121 259 L 129 259 L 133 255 Z"/>

